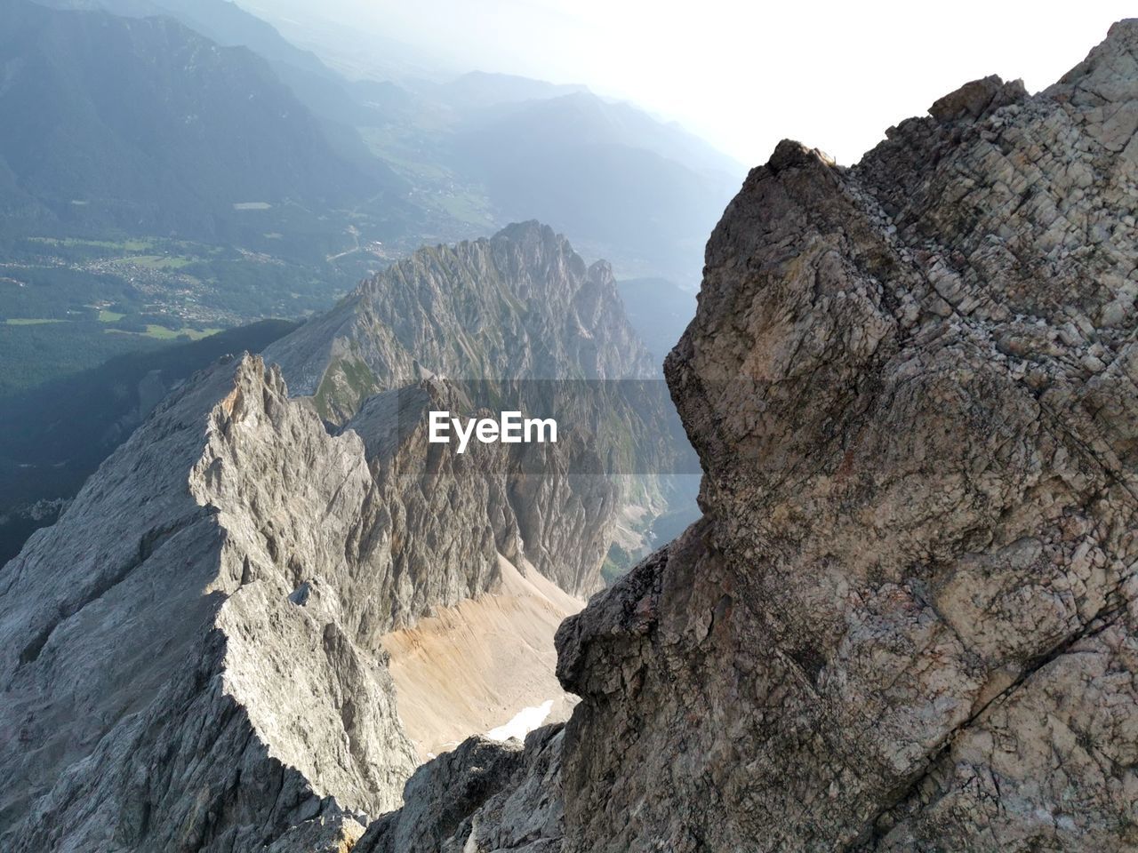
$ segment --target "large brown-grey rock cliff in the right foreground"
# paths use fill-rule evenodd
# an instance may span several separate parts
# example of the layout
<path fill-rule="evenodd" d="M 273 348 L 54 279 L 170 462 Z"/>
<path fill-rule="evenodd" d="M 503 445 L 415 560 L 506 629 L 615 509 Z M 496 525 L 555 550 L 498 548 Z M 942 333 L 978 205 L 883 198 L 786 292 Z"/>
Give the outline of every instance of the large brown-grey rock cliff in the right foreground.
<path fill-rule="evenodd" d="M 559 632 L 555 848 L 1138 850 L 1138 20 L 930 113 L 712 234 L 706 515 Z M 439 846 L 542 850 L 534 778 Z"/>

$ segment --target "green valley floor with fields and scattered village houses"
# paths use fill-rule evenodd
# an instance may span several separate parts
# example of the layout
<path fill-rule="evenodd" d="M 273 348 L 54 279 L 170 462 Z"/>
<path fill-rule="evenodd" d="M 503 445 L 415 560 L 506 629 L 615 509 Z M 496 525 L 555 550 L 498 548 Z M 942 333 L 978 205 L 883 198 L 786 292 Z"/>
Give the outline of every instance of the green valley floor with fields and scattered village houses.
<path fill-rule="evenodd" d="M 0 397 L 116 355 L 323 310 L 374 263 L 151 235 L 0 239 L 0 364 L 18 367 L 0 376 Z"/>

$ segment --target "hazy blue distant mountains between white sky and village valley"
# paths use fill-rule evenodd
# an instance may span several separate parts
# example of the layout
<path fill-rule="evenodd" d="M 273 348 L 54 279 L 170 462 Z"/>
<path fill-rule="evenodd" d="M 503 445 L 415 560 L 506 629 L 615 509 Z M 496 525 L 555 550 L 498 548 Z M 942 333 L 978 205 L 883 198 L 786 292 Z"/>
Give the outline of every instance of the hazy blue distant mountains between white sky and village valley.
<path fill-rule="evenodd" d="M 0 107 L 20 117 L 0 139 L 0 205 L 23 227 L 270 252 L 283 234 L 315 258 L 352 249 L 353 227 L 406 254 L 537 217 L 618 273 L 694 281 L 743 175 L 579 85 L 348 80 L 228 0 L 0 14 Z"/>

